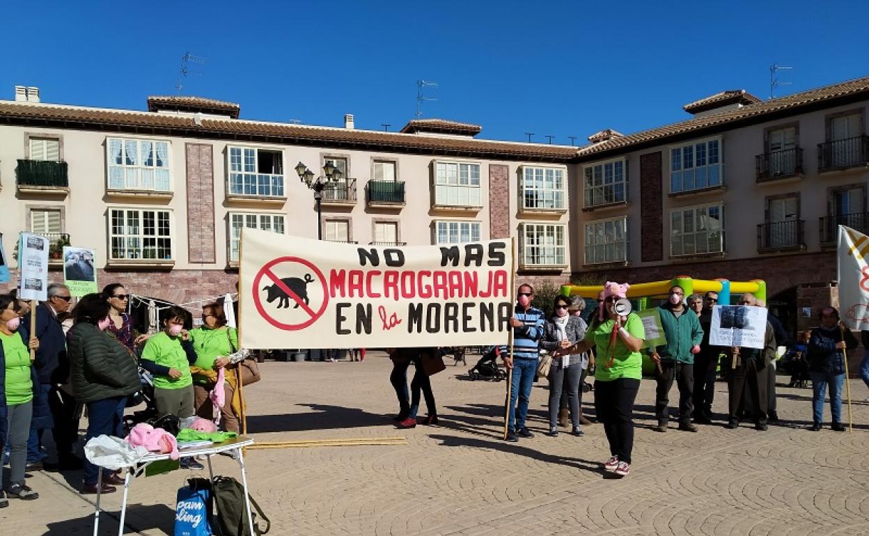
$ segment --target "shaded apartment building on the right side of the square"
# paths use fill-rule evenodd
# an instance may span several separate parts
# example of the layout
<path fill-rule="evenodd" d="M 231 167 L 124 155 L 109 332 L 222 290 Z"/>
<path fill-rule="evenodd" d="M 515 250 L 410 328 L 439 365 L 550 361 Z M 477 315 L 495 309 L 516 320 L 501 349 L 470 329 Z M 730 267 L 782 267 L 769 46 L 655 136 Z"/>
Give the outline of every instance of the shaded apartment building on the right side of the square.
<path fill-rule="evenodd" d="M 869 77 L 767 101 L 733 90 L 687 104 L 683 122 L 595 134 L 576 158 L 574 271 L 763 279 L 806 326 L 838 301 L 837 226 L 869 232 L 867 105 Z"/>

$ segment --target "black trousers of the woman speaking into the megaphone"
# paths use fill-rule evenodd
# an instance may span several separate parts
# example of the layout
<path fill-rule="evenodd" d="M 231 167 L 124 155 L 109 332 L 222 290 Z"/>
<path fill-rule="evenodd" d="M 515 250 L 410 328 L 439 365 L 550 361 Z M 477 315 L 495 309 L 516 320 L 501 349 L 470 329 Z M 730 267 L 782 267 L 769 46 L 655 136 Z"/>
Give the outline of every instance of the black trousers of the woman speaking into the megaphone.
<path fill-rule="evenodd" d="M 594 382 L 594 409 L 607 433 L 609 453 L 626 463 L 631 463 L 634 450 L 634 400 L 639 390 L 640 380 L 630 378 Z"/>

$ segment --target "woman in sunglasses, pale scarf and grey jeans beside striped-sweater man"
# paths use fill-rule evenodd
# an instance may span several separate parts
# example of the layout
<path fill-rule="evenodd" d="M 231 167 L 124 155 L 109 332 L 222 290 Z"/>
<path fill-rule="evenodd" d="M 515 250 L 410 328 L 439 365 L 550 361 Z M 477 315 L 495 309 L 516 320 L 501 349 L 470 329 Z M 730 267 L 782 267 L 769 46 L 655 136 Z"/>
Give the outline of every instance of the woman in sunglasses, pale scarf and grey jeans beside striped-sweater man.
<path fill-rule="evenodd" d="M 586 321 L 569 314 L 570 298 L 565 295 L 555 297 L 554 314 L 543 328 L 541 347 L 549 353 L 571 347 L 586 335 Z M 580 428 L 580 379 L 582 377 L 583 354 L 566 354 L 554 357 L 549 368 L 549 432 L 558 435 L 558 412 L 561 407 L 561 393 L 567 392 L 567 406 L 570 408 L 570 422 L 575 436 L 582 435 Z"/>

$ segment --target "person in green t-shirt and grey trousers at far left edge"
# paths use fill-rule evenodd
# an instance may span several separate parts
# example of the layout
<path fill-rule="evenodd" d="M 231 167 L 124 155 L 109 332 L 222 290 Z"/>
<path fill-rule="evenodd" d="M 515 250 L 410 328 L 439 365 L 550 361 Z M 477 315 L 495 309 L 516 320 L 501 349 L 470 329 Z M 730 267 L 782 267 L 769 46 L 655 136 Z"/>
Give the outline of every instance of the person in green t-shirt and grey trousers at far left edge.
<path fill-rule="evenodd" d="M 38 349 L 39 340 L 28 340 L 22 328 L 18 301 L 10 294 L 0 295 L 0 453 L 7 440 L 10 446 L 9 480 L 0 489 L 0 507 L 9 505 L 7 496 L 23 500 L 39 497 L 24 483 L 33 390 L 39 381 L 31 367 L 30 349 Z"/>

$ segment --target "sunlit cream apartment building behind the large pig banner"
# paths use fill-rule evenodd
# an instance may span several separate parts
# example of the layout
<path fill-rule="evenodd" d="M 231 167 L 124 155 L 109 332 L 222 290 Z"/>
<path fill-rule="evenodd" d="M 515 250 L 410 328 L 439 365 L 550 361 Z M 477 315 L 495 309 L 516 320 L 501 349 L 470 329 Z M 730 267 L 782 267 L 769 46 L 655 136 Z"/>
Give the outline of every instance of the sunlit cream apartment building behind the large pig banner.
<path fill-rule="evenodd" d="M 26 230 L 57 248 L 96 248 L 100 283 L 174 302 L 215 296 L 235 288 L 242 228 L 317 237 L 299 172 L 328 166 L 340 177 L 322 192 L 325 240 L 516 236 L 522 277 L 566 281 L 573 269 L 574 147 L 482 140 L 480 126 L 434 119 L 400 132 L 355 129 L 350 115 L 343 128 L 249 121 L 237 103 L 192 96 L 152 96 L 147 111 L 42 100 L 19 86 L 0 101 L 9 257 Z M 53 264 L 51 279 L 62 279 Z"/>

